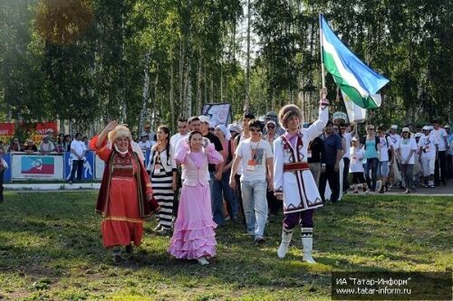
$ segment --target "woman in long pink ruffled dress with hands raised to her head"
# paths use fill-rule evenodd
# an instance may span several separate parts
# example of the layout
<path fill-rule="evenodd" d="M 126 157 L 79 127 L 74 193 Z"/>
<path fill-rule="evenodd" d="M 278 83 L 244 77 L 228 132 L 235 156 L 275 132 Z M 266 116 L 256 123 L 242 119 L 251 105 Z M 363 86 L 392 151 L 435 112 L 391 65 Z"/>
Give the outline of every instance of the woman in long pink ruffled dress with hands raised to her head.
<path fill-rule="evenodd" d="M 223 157 L 198 131 L 191 132 L 188 142 L 181 144 L 176 161 L 182 165 L 183 183 L 169 253 L 177 259 L 198 259 L 207 265 L 207 259 L 216 255 L 217 245 L 207 164 L 217 165 Z"/>

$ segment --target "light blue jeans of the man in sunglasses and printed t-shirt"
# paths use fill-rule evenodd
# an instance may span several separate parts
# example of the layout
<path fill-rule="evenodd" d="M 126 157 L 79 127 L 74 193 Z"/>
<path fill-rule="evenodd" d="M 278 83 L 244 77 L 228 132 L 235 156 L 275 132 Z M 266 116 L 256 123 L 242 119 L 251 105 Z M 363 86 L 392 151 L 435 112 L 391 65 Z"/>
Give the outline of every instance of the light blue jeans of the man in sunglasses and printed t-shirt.
<path fill-rule="evenodd" d="M 247 233 L 254 235 L 255 240 L 262 239 L 267 221 L 267 183 L 265 180 L 241 181 L 241 190 Z"/>

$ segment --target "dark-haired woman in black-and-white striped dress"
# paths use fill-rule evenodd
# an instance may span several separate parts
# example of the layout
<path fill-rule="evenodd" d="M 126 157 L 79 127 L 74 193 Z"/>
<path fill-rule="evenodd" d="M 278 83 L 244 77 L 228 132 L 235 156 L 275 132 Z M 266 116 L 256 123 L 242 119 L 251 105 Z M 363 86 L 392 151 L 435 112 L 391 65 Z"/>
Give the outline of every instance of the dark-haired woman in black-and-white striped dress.
<path fill-rule="evenodd" d="M 177 189 L 177 168 L 174 150 L 169 144 L 169 127 L 158 127 L 157 141 L 151 148 L 148 169 L 153 196 L 160 206 L 155 230 L 167 234 L 173 225 L 173 196 Z"/>

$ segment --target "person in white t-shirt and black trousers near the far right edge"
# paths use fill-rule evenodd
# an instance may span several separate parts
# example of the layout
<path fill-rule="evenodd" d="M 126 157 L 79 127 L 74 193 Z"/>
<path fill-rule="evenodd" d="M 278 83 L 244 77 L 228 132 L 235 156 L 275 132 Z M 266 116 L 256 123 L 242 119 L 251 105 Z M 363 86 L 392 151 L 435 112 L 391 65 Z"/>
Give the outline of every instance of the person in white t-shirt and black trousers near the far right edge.
<path fill-rule="evenodd" d="M 433 121 L 434 130 L 431 134 L 436 136 L 439 142 L 439 155 L 434 165 L 434 184 L 440 185 L 447 184 L 447 148 L 448 148 L 448 134 L 445 128 L 440 127 L 439 120 Z M 439 173 L 440 169 L 440 173 Z"/>

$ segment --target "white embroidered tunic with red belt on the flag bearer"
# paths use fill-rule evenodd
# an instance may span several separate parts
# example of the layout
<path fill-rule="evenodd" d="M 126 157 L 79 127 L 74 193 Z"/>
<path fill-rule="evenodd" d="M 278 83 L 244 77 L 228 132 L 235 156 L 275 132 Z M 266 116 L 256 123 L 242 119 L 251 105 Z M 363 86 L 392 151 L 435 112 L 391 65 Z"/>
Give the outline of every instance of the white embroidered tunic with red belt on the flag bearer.
<path fill-rule="evenodd" d="M 307 163 L 308 145 L 323 133 L 329 120 L 328 108 L 319 109 L 319 118 L 312 126 L 302 128 L 295 137 L 295 147 L 288 141 L 289 133 L 274 142 L 275 193 L 284 195 L 284 213 L 302 212 L 323 206 L 321 196 L 309 169 L 284 172 L 284 164 Z"/>

